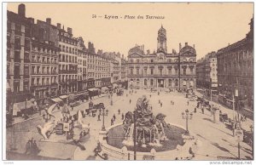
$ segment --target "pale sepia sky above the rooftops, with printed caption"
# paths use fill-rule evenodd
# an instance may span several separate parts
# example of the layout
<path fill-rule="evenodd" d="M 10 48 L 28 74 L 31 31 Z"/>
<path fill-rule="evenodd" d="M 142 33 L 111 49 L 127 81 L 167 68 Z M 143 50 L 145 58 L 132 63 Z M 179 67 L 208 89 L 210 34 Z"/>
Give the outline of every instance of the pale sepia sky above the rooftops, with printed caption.
<path fill-rule="evenodd" d="M 127 56 L 130 48 L 144 44 L 152 53 L 157 48 L 157 32 L 166 29 L 167 52 L 178 52 L 179 43 L 195 44 L 197 60 L 212 51 L 246 37 L 253 18 L 253 3 L 25 3 L 26 17 L 51 18 L 65 30 L 73 28 L 74 37 L 94 43 L 96 50 L 119 52 Z M 8 3 L 18 12 L 19 3 Z M 93 18 L 93 14 L 96 18 Z M 118 19 L 105 19 L 115 15 Z M 136 19 L 125 19 L 125 15 Z M 143 19 L 137 19 L 137 16 Z M 164 19 L 146 19 L 145 15 Z M 102 16 L 100 18 L 99 16 Z M 127 18 L 127 16 L 126 16 Z M 131 17 L 130 17 L 131 18 Z"/>

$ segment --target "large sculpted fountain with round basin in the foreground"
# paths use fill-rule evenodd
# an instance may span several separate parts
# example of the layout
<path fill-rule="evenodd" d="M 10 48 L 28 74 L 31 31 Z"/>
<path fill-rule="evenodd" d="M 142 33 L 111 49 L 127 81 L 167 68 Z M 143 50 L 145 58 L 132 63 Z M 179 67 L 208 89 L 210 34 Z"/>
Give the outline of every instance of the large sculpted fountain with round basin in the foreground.
<path fill-rule="evenodd" d="M 110 160 L 191 159 L 197 139 L 182 126 L 166 123 L 165 117 L 162 113 L 154 116 L 148 99 L 139 98 L 135 111 L 125 113 L 123 122 L 100 132 L 99 155 Z"/>

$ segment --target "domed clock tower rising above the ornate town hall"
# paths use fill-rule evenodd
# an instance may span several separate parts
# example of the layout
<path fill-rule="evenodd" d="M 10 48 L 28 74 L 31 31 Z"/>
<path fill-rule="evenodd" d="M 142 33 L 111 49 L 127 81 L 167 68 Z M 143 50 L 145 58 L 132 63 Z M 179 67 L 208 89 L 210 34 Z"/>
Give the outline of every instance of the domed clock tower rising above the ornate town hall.
<path fill-rule="evenodd" d="M 163 52 L 167 54 L 167 47 L 166 47 L 166 29 L 161 26 L 160 30 L 158 31 L 157 37 L 157 52 Z"/>

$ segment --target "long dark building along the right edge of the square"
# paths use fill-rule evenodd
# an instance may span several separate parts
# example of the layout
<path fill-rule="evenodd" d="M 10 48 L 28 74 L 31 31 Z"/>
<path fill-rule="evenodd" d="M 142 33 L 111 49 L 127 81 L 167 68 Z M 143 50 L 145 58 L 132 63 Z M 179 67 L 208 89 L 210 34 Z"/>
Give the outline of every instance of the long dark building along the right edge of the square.
<path fill-rule="evenodd" d="M 241 41 L 221 48 L 217 52 L 219 100 L 232 105 L 232 96 L 244 107 L 253 109 L 253 19 L 250 31 Z"/>

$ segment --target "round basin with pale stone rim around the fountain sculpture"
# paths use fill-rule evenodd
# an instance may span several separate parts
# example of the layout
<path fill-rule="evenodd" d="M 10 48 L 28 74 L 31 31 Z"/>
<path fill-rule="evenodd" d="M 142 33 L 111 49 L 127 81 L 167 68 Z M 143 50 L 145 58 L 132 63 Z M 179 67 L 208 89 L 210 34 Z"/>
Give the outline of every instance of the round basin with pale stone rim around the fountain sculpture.
<path fill-rule="evenodd" d="M 190 138 L 183 139 L 185 129 L 176 124 L 171 128 L 165 128 L 167 140 L 160 142 L 161 146 L 137 145 L 137 160 L 176 160 L 181 157 L 191 159 L 195 148 L 196 139 L 191 134 Z M 108 136 L 108 139 L 106 137 Z M 107 131 L 99 135 L 102 146 L 102 154 L 107 154 L 109 160 L 134 160 L 134 146 L 125 146 L 122 142 L 125 139 L 123 124 L 111 126 Z"/>

